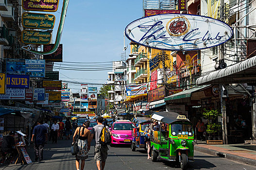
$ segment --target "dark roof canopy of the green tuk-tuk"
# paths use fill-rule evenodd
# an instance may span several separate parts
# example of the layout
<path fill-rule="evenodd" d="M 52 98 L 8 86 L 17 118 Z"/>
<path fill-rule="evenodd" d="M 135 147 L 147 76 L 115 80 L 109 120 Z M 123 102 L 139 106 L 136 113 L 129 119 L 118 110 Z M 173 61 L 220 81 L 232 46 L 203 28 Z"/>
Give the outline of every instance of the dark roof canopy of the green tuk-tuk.
<path fill-rule="evenodd" d="M 155 112 L 152 114 L 151 118 L 158 120 L 158 121 L 162 121 L 164 123 L 170 124 L 174 121 L 177 120 L 185 120 L 185 121 L 189 121 L 188 119 L 177 119 L 177 117 L 180 114 L 175 113 L 175 112 Z"/>

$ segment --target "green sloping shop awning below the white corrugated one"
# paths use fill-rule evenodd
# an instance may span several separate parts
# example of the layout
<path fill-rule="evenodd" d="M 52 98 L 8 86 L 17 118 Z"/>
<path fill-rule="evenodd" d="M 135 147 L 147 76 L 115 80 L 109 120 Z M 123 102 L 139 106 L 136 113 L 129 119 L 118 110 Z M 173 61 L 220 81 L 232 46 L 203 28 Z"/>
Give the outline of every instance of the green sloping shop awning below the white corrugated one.
<path fill-rule="evenodd" d="M 176 100 L 176 99 L 190 98 L 191 94 L 193 92 L 196 92 L 196 91 L 201 90 L 203 88 L 206 88 L 208 86 L 210 86 L 210 85 L 201 85 L 201 86 L 193 87 L 193 88 L 190 88 L 188 90 L 184 90 L 182 92 L 173 94 L 171 96 L 165 97 L 165 102 L 166 101 L 171 101 L 171 100 Z"/>

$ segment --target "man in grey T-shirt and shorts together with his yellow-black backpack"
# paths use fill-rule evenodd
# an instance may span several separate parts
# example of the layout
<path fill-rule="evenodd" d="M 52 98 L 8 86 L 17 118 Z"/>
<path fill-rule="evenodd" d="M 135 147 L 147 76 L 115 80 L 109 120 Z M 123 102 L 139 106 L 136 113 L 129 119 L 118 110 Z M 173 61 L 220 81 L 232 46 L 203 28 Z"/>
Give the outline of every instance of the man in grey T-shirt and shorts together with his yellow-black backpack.
<path fill-rule="evenodd" d="M 96 161 L 96 166 L 98 170 L 104 170 L 106 159 L 108 156 L 108 144 L 111 142 L 111 132 L 110 128 L 103 125 L 103 118 L 97 118 L 97 125 L 91 130 L 91 140 L 95 135 L 95 149 L 94 149 L 94 159 Z"/>

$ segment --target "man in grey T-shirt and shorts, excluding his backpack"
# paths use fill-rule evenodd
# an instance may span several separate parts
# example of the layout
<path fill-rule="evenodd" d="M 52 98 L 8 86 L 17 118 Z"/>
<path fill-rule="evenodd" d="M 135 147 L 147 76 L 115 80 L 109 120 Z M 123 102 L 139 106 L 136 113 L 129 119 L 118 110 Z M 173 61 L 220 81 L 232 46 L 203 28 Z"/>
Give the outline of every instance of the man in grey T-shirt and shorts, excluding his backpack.
<path fill-rule="evenodd" d="M 94 148 L 94 159 L 96 161 L 98 170 L 104 170 L 106 159 L 108 156 L 108 146 L 100 144 L 100 134 L 104 127 L 104 125 L 102 124 L 103 118 L 99 116 L 96 121 L 97 121 L 97 125 L 91 129 L 91 140 L 93 136 L 95 136 L 95 142 L 96 142 L 95 148 Z M 110 131 L 110 128 L 108 126 L 106 126 L 106 128 L 108 131 Z M 110 135 L 112 135 L 111 132 L 110 132 Z"/>

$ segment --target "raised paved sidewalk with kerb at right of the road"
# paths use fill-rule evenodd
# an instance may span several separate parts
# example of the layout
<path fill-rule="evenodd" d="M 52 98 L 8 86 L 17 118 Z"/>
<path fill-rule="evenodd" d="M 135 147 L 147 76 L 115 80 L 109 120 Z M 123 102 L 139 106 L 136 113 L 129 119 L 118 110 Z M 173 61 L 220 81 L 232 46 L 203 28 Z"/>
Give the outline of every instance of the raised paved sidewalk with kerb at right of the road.
<path fill-rule="evenodd" d="M 196 151 L 224 157 L 234 161 L 256 166 L 256 145 L 231 144 L 231 145 L 206 145 L 198 144 Z"/>

